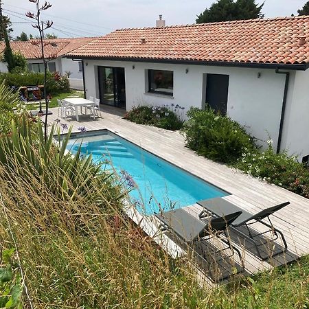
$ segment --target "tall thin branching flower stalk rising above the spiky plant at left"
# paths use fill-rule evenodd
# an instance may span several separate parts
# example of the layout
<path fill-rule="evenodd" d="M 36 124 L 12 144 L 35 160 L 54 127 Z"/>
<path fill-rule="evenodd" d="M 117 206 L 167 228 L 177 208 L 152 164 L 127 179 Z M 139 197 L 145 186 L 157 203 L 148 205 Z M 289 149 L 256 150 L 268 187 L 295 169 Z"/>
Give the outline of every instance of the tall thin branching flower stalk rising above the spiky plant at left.
<path fill-rule="evenodd" d="M 0 0 L 1 1 L 1 0 Z M 40 39 L 38 41 L 31 41 L 33 45 L 40 46 L 41 47 L 41 60 L 44 64 L 44 98 L 45 98 L 45 123 L 44 123 L 44 139 L 45 143 L 47 141 L 47 118 L 48 118 L 48 106 L 49 106 L 49 100 L 47 98 L 47 58 L 45 55 L 45 46 L 47 46 L 49 43 L 44 42 L 44 31 L 52 27 L 53 22 L 52 21 L 42 21 L 41 22 L 41 12 L 48 10 L 52 7 L 52 4 L 45 1 L 44 4 L 40 5 L 40 0 L 29 0 L 32 3 L 35 3 L 36 5 L 36 12 L 27 12 L 26 16 L 30 19 L 33 19 L 35 21 L 34 24 L 32 24 L 32 27 L 36 28 L 38 30 L 38 33 L 40 35 Z M 49 56 L 49 59 L 56 58 L 56 55 Z M 42 104 L 40 101 L 40 111 L 41 115 L 43 114 L 42 111 Z"/>

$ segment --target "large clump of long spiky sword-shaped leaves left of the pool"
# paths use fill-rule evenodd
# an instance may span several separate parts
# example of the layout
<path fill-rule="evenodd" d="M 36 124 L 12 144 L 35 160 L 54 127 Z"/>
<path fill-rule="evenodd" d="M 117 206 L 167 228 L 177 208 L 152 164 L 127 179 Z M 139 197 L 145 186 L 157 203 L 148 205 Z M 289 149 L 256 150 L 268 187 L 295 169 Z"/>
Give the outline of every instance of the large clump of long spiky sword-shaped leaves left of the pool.
<path fill-rule="evenodd" d="M 32 138 L 32 126 L 27 117 L 21 122 L 12 122 L 12 133 L 0 139 L 0 163 L 12 172 L 23 174 L 25 179 L 43 181 L 49 192 L 63 200 L 74 201 L 76 196 L 87 194 L 89 200 L 104 205 L 106 201 L 117 201 L 121 196 L 113 186 L 113 174 L 101 172 L 102 164 L 94 165 L 92 157 L 80 157 L 80 151 L 74 157 L 66 154 L 71 129 L 58 149 L 53 145 L 55 128 L 49 130 L 45 142 L 41 122 L 37 122 L 38 140 Z M 60 140 L 60 130 L 58 139 Z M 97 183 L 100 192 L 93 185 Z M 38 192 L 40 188 L 38 188 Z M 104 200 L 102 200 L 104 196 Z"/>

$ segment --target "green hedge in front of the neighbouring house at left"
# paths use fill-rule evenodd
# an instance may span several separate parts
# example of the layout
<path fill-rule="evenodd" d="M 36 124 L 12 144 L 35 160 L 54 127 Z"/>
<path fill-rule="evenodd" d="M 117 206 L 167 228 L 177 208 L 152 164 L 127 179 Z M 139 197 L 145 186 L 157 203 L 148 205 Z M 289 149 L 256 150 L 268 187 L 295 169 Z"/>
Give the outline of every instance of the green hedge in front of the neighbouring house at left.
<path fill-rule="evenodd" d="M 0 81 L 5 80 L 8 87 L 23 87 L 44 84 L 44 74 L 25 73 L 1 73 Z M 59 76 L 58 73 L 47 72 L 47 93 L 56 95 L 58 93 L 69 92 L 69 79 L 67 76 Z"/>

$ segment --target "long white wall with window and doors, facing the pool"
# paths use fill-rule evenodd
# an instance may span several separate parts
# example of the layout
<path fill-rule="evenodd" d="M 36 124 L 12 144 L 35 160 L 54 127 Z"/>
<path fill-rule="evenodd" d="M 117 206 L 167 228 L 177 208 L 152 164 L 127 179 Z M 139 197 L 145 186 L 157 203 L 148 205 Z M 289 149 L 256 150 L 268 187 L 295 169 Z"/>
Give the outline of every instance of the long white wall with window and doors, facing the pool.
<path fill-rule="evenodd" d="M 266 146 L 266 141 L 271 138 L 274 141 L 273 146 L 277 147 L 285 76 L 276 74 L 274 69 L 85 60 L 87 98 L 89 95 L 97 98 L 100 96 L 98 66 L 124 67 L 127 110 L 138 104 L 171 103 L 184 106 L 185 111 L 190 106 L 201 108 L 205 101 L 205 82 L 203 82 L 205 74 L 227 74 L 229 75 L 227 115 L 247 126 L 248 132 L 260 139 L 258 144 L 261 146 Z M 174 71 L 172 98 L 146 92 L 147 69 Z M 189 69 L 188 73 L 185 73 L 186 69 Z M 260 78 L 258 78 L 259 72 Z"/>

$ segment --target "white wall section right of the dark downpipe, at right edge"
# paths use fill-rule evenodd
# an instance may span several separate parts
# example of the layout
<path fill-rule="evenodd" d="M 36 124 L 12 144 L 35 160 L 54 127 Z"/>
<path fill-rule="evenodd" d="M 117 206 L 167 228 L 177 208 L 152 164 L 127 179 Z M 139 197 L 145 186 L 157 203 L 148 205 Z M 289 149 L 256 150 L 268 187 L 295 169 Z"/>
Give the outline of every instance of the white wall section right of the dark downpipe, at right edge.
<path fill-rule="evenodd" d="M 282 149 L 290 155 L 297 155 L 299 161 L 309 155 L 309 69 L 296 71 L 291 76 Z"/>

